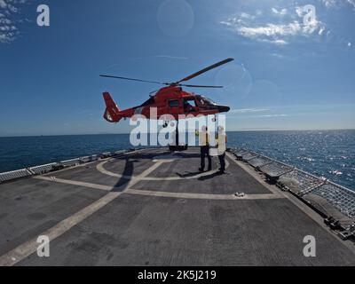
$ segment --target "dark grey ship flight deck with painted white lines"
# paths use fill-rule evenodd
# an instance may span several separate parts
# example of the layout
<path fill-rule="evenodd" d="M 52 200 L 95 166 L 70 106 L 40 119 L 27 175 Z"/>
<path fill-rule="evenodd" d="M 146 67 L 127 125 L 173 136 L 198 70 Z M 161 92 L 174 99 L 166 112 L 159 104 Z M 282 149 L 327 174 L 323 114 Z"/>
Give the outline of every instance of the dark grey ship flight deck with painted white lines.
<path fill-rule="evenodd" d="M 0 265 L 355 264 L 311 209 L 226 161 L 200 174 L 198 149 L 146 149 L 0 185 Z"/>

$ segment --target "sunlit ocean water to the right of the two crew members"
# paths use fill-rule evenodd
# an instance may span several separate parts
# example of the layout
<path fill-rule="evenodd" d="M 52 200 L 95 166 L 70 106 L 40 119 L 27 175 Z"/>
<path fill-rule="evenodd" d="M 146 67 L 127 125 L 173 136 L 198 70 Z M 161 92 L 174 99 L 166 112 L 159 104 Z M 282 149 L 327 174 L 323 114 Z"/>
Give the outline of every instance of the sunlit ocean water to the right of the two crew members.
<path fill-rule="evenodd" d="M 228 138 L 229 146 L 247 147 L 355 190 L 355 130 L 248 131 Z"/>

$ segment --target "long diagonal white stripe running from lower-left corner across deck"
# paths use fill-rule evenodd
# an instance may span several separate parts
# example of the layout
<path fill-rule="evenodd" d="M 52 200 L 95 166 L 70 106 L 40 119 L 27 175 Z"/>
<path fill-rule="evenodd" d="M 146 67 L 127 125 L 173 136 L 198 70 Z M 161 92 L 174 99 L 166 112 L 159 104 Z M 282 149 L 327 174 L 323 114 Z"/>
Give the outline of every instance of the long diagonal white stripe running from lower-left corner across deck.
<path fill-rule="evenodd" d="M 152 167 L 146 169 L 137 177 L 130 180 L 130 182 L 126 185 L 118 186 L 118 189 L 129 188 L 131 185 L 135 185 L 138 181 L 141 180 L 142 177 L 149 175 L 153 170 L 157 169 L 162 162 L 156 162 Z M 92 187 L 92 186 L 91 186 Z M 112 188 L 112 187 L 111 187 Z M 66 233 L 75 225 L 78 225 L 87 217 L 90 217 L 92 214 L 97 212 L 99 209 L 106 206 L 109 202 L 114 201 L 118 196 L 120 196 L 122 192 L 110 192 L 101 197 L 98 201 L 94 201 L 91 205 L 87 206 L 86 208 L 76 212 L 74 215 L 67 217 L 65 220 L 59 222 L 59 224 L 54 225 L 47 231 L 40 233 L 38 235 L 47 235 L 51 241 L 58 238 L 63 233 Z M 0 256 L 0 266 L 12 266 L 14 264 L 19 263 L 24 258 L 32 255 L 36 252 L 38 247 L 37 238 L 32 240 L 26 241 L 17 248 L 13 248 L 11 251 L 7 252 L 3 256 Z"/>

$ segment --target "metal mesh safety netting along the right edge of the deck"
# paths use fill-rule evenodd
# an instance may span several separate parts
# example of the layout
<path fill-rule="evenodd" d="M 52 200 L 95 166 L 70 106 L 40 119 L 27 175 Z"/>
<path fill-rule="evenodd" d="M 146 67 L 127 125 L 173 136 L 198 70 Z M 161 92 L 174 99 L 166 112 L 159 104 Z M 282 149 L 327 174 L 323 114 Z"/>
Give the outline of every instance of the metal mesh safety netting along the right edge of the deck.
<path fill-rule="evenodd" d="M 355 238 L 355 192 L 342 185 L 297 169 L 245 148 L 229 149 L 237 160 L 247 162 L 262 172 L 266 180 L 282 190 L 296 195 L 325 217 L 333 229 L 339 229 L 343 239 Z M 245 159 L 243 159 L 245 157 Z"/>

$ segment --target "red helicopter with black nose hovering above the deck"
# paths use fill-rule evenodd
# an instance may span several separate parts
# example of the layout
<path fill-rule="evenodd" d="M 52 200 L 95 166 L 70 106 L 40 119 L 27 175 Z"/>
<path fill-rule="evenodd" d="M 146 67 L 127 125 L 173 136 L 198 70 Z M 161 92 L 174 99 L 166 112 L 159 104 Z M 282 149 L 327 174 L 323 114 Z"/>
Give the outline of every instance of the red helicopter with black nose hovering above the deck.
<path fill-rule="evenodd" d="M 174 82 L 174 83 L 161 83 L 155 81 L 146 81 L 134 78 L 120 77 L 114 75 L 100 75 L 101 77 L 115 78 L 115 79 L 123 79 L 130 81 L 138 81 L 145 83 L 157 83 L 165 85 L 162 89 L 158 91 L 151 92 L 150 99 L 146 100 L 142 105 L 131 107 L 125 110 L 121 110 L 111 98 L 109 92 L 104 92 L 103 96 L 106 103 L 106 110 L 104 114 L 104 118 L 107 122 L 119 122 L 122 118 L 132 117 L 135 114 L 142 114 L 146 117 L 146 119 L 158 119 L 164 117 L 164 114 L 172 115 L 178 123 L 179 115 L 185 114 L 187 115 L 209 115 L 209 114 L 218 114 L 228 112 L 230 110 L 229 106 L 220 106 L 217 105 L 210 99 L 202 95 L 197 95 L 194 93 L 190 93 L 187 91 L 183 91 L 182 87 L 189 88 L 223 88 L 223 86 L 206 86 L 206 85 L 192 85 L 185 84 L 183 82 L 189 81 L 194 77 L 201 75 L 213 68 L 219 67 L 233 61 L 232 58 L 222 60 L 213 64 L 209 67 L 206 67 L 193 75 L 189 75 L 184 79 Z M 154 95 L 152 95 L 155 93 Z M 157 112 L 156 116 L 151 115 L 151 107 L 156 107 Z M 167 127 L 168 123 L 165 122 L 163 127 Z"/>

